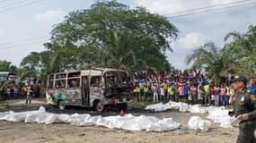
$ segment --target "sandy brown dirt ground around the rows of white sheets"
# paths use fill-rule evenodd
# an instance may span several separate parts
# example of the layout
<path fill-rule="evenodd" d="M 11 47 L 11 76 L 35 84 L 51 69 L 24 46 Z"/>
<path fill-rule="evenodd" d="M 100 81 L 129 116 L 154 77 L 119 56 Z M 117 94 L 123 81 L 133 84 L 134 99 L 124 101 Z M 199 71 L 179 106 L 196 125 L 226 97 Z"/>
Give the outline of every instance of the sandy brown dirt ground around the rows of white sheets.
<path fill-rule="evenodd" d="M 0 106 L 0 112 L 13 110 L 15 112 L 36 110 L 41 101 L 33 101 L 32 105 L 24 105 L 22 100 L 8 101 L 7 105 Z M 66 114 L 96 114 L 90 109 L 67 108 L 60 112 L 47 106 L 47 111 L 52 113 Z M 24 122 L 0 122 L 1 143 L 234 143 L 238 134 L 237 128 L 225 129 L 219 124 L 212 123 L 207 132 L 201 130 L 189 130 L 187 122 L 190 116 L 197 115 L 207 119 L 207 114 L 179 113 L 166 111 L 162 113 L 151 113 L 143 109 L 128 109 L 129 114 L 153 115 L 158 118 L 172 117 L 175 122 L 181 122 L 181 129 L 164 132 L 146 132 L 108 129 L 102 126 L 76 127 L 66 123 L 38 124 Z M 104 116 L 118 114 L 108 111 Z"/>

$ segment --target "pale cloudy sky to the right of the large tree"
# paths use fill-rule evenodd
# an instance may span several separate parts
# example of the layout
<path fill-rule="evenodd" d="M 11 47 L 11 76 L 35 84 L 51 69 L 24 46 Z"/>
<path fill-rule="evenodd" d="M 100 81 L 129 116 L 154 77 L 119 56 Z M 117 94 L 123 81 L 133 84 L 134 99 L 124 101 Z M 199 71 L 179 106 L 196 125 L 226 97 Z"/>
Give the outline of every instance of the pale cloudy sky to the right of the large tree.
<path fill-rule="evenodd" d="M 223 4 L 237 5 L 241 0 L 133 0 L 136 6 L 146 7 L 153 13 L 164 16 L 179 15 L 181 11 L 190 11 L 201 7 Z M 245 3 L 249 3 L 244 1 Z M 219 7 L 224 7 L 219 6 Z M 234 8 L 190 14 L 188 16 L 170 19 L 181 30 L 179 39 L 172 43 L 173 53 L 167 53 L 168 60 L 179 69 L 186 69 L 186 56 L 199 46 L 212 41 L 216 46 L 224 46 L 224 38 L 228 32 L 244 33 L 250 24 L 255 25 L 255 5 L 246 4 Z M 175 13 L 175 14 L 170 14 Z M 165 15 L 167 14 L 167 15 Z"/>

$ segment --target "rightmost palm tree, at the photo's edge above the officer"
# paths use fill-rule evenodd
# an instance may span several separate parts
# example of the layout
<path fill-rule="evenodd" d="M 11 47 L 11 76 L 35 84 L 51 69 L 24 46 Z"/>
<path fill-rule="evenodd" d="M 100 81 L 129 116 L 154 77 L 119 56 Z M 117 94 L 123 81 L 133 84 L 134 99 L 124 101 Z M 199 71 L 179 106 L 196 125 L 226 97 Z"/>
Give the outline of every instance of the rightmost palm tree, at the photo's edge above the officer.
<path fill-rule="evenodd" d="M 230 56 L 231 63 L 235 63 L 233 71 L 236 74 L 252 76 L 256 72 L 256 27 L 250 26 L 245 34 L 230 32 L 225 36 L 225 56 Z"/>

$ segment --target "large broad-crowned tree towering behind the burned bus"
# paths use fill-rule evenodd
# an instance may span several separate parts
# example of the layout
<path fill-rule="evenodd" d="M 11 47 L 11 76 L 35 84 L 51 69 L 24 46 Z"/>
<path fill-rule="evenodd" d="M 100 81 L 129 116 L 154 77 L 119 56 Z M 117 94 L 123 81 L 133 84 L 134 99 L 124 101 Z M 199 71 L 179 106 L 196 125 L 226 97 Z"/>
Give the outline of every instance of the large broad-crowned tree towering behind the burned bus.
<path fill-rule="evenodd" d="M 52 43 L 57 46 L 49 47 L 50 50 L 87 48 L 94 52 L 89 56 L 98 60 L 95 65 L 164 70 L 164 52 L 172 51 L 170 44 L 178 29 L 163 16 L 112 1 L 70 13 L 51 33 Z M 84 63 L 91 62 L 87 58 Z"/>

